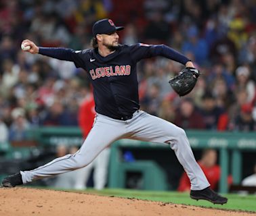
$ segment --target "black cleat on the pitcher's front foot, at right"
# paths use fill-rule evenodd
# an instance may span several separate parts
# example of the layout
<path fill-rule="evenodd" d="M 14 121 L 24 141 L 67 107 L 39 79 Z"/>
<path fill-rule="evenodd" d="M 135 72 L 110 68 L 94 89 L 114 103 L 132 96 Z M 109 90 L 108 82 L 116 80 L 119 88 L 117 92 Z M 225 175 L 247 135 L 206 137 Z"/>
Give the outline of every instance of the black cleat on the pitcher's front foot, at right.
<path fill-rule="evenodd" d="M 223 205 L 228 202 L 228 198 L 220 196 L 217 192 L 211 190 L 211 188 L 205 188 L 203 190 L 191 190 L 190 198 L 194 200 L 208 200 L 213 204 Z"/>

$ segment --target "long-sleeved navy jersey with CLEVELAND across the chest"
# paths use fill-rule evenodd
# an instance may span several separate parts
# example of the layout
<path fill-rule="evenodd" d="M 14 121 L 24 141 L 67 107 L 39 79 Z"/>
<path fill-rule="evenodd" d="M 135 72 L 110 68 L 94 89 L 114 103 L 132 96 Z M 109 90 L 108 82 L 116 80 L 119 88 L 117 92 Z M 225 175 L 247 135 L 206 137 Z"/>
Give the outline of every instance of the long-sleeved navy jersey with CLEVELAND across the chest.
<path fill-rule="evenodd" d="M 39 48 L 39 53 L 73 61 L 87 71 L 93 85 L 95 111 L 114 119 L 131 116 L 140 109 L 136 63 L 141 59 L 164 56 L 185 64 L 189 59 L 165 45 L 120 45 L 106 57 L 98 49 L 74 51 L 64 48 Z"/>

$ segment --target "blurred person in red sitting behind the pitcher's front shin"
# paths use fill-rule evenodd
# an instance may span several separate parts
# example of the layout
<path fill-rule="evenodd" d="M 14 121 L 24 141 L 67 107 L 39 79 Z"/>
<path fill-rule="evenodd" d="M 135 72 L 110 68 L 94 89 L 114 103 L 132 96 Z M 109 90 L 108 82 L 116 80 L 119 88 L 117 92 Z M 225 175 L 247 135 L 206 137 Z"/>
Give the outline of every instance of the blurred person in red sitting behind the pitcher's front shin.
<path fill-rule="evenodd" d="M 211 189 L 216 190 L 217 184 L 221 176 L 221 168 L 217 163 L 217 152 L 213 149 L 206 149 L 202 152 L 202 157 L 198 164 L 205 173 L 207 180 L 211 184 Z M 179 192 L 190 191 L 190 181 L 188 175 L 184 172 L 182 178 L 179 180 L 179 187 L 177 188 Z"/>

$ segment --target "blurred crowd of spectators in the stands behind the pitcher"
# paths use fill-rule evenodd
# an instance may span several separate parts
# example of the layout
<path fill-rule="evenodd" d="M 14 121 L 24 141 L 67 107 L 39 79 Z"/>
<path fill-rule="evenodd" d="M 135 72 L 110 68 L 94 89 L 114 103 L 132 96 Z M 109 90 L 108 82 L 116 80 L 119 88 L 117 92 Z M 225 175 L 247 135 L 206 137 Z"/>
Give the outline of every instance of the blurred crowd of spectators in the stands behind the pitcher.
<path fill-rule="evenodd" d="M 202 75 L 182 99 L 168 80 L 183 65 L 163 57 L 138 64 L 143 110 L 184 129 L 256 130 L 256 1 L 2 0 L 0 2 L 0 141 L 22 140 L 38 126 L 78 126 L 90 95 L 74 63 L 21 51 L 90 48 L 91 26 L 112 18 L 120 43 L 164 43 L 194 61 Z"/>

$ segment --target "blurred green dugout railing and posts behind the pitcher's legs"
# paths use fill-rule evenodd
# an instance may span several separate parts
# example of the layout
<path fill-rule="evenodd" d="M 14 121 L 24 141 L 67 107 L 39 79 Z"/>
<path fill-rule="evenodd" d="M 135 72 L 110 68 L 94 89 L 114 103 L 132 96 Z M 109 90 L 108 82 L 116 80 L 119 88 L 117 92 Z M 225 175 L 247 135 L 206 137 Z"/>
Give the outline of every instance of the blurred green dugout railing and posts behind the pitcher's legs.
<path fill-rule="evenodd" d="M 43 127 L 35 128 L 28 132 L 29 138 L 35 140 L 38 145 L 78 145 L 83 143 L 81 130 L 74 127 Z M 186 134 L 193 149 L 216 148 L 219 151 L 219 164 L 221 165 L 221 181 L 219 183 L 220 192 L 228 192 L 226 180 L 228 174 L 232 173 L 233 183 L 239 184 L 242 177 L 242 151 L 256 151 L 256 133 L 255 132 L 211 132 L 187 130 Z M 100 134 L 104 136 L 104 134 Z M 124 170 L 139 170 L 140 165 L 145 176 L 152 175 L 152 170 L 161 178 L 165 178 L 165 173 L 161 167 L 152 161 L 136 161 L 133 164 L 125 164 L 121 160 L 120 152 L 122 148 L 163 148 L 169 151 L 168 144 L 148 143 L 137 140 L 119 140 L 111 146 L 110 172 L 108 185 L 110 188 L 123 187 Z M 256 157 L 255 157 L 256 158 Z M 229 163 L 231 161 L 231 163 Z M 151 172 L 150 167 L 151 166 Z M 146 172 L 145 170 L 148 170 Z M 154 173 L 154 172 L 153 172 Z M 161 182 L 161 178 L 154 178 L 152 182 Z M 146 182 L 150 182 L 146 180 Z M 145 189 L 150 188 L 150 183 Z M 165 182 L 163 182 L 165 184 Z M 151 185 L 153 190 L 165 190 L 166 186 L 160 188 Z"/>

